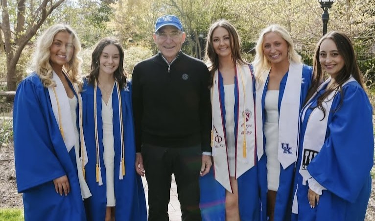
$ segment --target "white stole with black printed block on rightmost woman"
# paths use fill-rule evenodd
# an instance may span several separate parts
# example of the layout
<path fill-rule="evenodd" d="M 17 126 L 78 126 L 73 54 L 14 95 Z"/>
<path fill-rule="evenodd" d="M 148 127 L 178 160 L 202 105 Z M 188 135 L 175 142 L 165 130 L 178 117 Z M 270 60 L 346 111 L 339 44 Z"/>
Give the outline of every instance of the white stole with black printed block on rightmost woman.
<path fill-rule="evenodd" d="M 322 88 L 329 83 L 331 77 L 329 77 L 323 84 L 321 84 L 317 92 L 322 90 Z M 350 77 L 343 85 L 349 82 L 355 81 L 353 77 Z M 301 112 L 301 122 L 305 119 L 306 110 L 311 107 L 312 99 L 317 96 L 317 92 L 307 101 L 307 104 Z M 304 146 L 302 147 L 302 160 L 299 172 L 303 177 L 302 184 L 306 185 L 306 181 L 311 178 L 310 173 L 307 171 L 307 166 L 311 160 L 318 154 L 324 145 L 326 140 L 326 132 L 328 126 L 328 117 L 332 107 L 333 99 L 336 94 L 339 93 L 337 90 L 332 91 L 327 98 L 323 101 L 323 108 L 326 110 L 326 116 L 324 116 L 323 111 L 317 107 L 313 107 L 314 110 L 308 117 L 308 123 L 306 125 L 306 131 L 304 136 Z M 323 120 L 322 120 L 323 119 Z"/>

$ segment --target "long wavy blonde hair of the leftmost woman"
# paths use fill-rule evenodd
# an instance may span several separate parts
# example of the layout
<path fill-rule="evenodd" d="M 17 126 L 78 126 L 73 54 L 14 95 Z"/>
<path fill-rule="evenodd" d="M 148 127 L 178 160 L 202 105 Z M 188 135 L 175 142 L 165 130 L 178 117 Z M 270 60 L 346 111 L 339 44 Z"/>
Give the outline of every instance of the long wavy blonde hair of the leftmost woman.
<path fill-rule="evenodd" d="M 43 86 L 55 87 L 56 83 L 52 80 L 53 68 L 50 63 L 50 48 L 53 43 L 53 38 L 59 32 L 68 32 L 72 37 L 72 43 L 74 47 L 73 56 L 63 66 L 63 71 L 67 74 L 70 80 L 77 84 L 79 90 L 82 88 L 83 80 L 81 74 L 82 58 L 78 55 L 81 50 L 81 42 L 78 39 L 75 31 L 65 24 L 56 24 L 50 26 L 43 34 L 38 38 L 33 62 L 31 64 L 31 70 L 34 71 L 41 79 Z"/>

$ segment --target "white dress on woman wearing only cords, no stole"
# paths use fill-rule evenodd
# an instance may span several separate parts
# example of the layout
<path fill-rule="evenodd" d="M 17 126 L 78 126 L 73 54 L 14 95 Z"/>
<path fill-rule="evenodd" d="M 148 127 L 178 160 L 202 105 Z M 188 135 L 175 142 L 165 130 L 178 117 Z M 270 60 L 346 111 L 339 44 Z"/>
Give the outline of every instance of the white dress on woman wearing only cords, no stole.
<path fill-rule="evenodd" d="M 112 95 L 106 104 L 102 99 L 101 118 L 103 121 L 103 160 L 106 172 L 107 206 L 116 206 L 114 171 L 115 171 L 115 149 L 113 138 L 113 109 Z"/>

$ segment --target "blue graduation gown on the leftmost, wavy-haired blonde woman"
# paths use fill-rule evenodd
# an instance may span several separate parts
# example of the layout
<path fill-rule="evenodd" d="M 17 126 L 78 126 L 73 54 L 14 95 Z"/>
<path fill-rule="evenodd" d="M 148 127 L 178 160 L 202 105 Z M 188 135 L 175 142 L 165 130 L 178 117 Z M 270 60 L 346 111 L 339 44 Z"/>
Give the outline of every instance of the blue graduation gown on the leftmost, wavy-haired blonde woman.
<path fill-rule="evenodd" d="M 18 86 L 13 131 L 17 188 L 23 193 L 25 221 L 85 221 L 76 147 L 68 153 L 52 111 L 48 89 L 35 73 Z M 63 175 L 69 179 L 68 196 L 57 194 L 53 184 L 54 179 Z"/>

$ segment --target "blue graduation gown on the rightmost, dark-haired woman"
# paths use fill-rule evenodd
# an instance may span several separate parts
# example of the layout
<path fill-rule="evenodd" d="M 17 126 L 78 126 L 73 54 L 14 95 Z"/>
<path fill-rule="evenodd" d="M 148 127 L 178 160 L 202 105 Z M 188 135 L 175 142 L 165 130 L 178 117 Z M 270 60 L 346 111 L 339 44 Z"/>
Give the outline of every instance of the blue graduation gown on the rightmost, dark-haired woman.
<path fill-rule="evenodd" d="M 311 209 L 307 199 L 308 185 L 302 185 L 299 168 L 309 116 L 307 109 L 301 125 L 298 183 L 298 221 L 363 221 L 371 193 L 370 170 L 374 162 L 372 106 L 358 82 L 344 85 L 344 97 L 333 98 L 328 116 L 326 138 L 320 152 L 307 166 L 308 172 L 324 186 L 319 205 Z M 325 91 L 320 91 L 319 95 Z M 313 105 L 317 96 L 312 99 Z M 340 102 L 341 106 L 340 106 Z M 316 105 L 314 105 L 316 106 Z M 337 108 L 339 108 L 337 110 Z M 332 110 L 337 110 L 332 112 Z M 322 128 L 324 129 L 324 128 Z"/>

